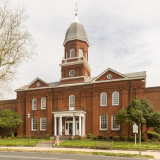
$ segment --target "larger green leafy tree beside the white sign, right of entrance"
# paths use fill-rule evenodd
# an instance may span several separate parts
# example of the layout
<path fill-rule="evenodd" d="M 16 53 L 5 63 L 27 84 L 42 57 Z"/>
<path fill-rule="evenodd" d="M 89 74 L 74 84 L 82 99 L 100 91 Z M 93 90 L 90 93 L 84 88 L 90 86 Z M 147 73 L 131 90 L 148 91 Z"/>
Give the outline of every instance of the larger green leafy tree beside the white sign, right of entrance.
<path fill-rule="evenodd" d="M 133 99 L 127 108 L 122 108 L 116 116 L 116 123 L 127 122 L 129 124 L 139 124 L 140 122 L 140 113 L 141 113 L 141 130 L 143 125 L 146 125 L 146 130 L 142 132 L 142 136 L 148 131 L 150 127 L 158 126 L 158 122 L 155 123 L 156 117 L 158 117 L 157 113 L 154 111 L 152 104 L 149 100 L 135 98 Z M 160 117 L 160 116 L 159 116 Z M 153 121 L 154 119 L 154 121 Z M 160 120 L 160 118 L 159 118 Z M 160 124 L 159 124 L 160 125 Z"/>

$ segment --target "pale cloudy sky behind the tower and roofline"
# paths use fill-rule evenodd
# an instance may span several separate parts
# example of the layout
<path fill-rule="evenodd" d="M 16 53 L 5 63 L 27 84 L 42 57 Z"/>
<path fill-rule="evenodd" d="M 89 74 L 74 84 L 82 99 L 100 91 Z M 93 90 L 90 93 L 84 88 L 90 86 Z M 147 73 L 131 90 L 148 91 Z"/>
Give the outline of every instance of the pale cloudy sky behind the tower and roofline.
<path fill-rule="evenodd" d="M 92 77 L 107 68 L 120 73 L 147 71 L 147 87 L 160 86 L 160 1 L 159 0 L 11 0 L 24 5 L 28 30 L 37 45 L 33 61 L 18 69 L 12 90 L 36 77 L 59 81 L 65 33 L 78 19 L 88 39 Z M 13 92 L 7 98 L 14 99 Z"/>

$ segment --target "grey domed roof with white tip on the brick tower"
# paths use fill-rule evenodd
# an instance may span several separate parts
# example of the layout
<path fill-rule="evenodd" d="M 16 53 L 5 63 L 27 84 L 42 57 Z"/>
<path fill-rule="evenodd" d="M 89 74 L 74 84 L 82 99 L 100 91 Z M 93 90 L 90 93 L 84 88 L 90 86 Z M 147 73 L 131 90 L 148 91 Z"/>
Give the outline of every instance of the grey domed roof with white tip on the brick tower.
<path fill-rule="evenodd" d="M 76 15 L 75 21 L 71 23 L 70 27 L 66 32 L 63 45 L 65 45 L 68 41 L 71 41 L 71 40 L 85 41 L 89 46 L 87 33 L 83 25 L 78 21 L 77 15 Z"/>

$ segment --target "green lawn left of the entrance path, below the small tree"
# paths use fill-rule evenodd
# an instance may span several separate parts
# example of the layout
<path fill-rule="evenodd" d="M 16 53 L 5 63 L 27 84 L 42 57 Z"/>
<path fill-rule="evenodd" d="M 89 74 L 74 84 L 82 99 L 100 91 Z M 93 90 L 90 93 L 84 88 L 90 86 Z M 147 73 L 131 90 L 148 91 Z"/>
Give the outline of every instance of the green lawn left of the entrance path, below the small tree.
<path fill-rule="evenodd" d="M 39 139 L 39 142 L 48 141 L 46 139 Z M 0 139 L 0 146 L 14 146 L 14 145 L 24 145 L 24 146 L 34 146 L 35 139 Z"/>

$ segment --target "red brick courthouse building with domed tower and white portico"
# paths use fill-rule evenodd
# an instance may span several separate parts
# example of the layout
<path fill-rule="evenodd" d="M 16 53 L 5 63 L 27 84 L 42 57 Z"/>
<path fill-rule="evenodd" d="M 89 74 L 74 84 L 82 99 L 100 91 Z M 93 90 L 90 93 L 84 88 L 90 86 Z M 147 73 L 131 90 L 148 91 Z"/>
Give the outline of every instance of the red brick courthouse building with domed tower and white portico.
<path fill-rule="evenodd" d="M 160 87 L 145 87 L 145 71 L 122 74 L 108 68 L 97 77 L 91 77 L 89 41 L 77 15 L 66 32 L 63 45 L 59 82 L 47 83 L 36 78 L 15 90 L 16 100 L 1 105 L 1 110 L 8 106 L 21 115 L 23 124 L 17 129 L 18 135 L 28 135 L 27 114 L 30 113 L 31 136 L 75 135 L 75 128 L 79 136 L 88 133 L 128 136 L 131 133 L 128 124 L 114 123 L 121 108 L 127 107 L 137 96 L 151 100 L 154 109 L 159 110 Z"/>

